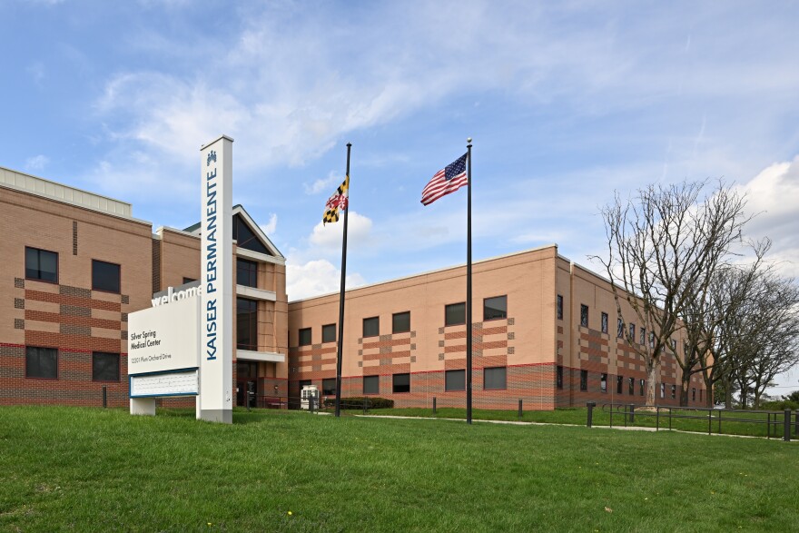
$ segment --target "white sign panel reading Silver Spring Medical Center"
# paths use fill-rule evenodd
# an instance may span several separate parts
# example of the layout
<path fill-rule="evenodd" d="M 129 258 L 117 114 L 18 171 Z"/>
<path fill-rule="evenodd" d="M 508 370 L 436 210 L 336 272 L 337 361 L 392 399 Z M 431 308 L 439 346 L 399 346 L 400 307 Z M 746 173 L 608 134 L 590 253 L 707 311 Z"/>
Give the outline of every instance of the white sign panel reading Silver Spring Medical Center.
<path fill-rule="evenodd" d="M 128 374 L 195 369 L 200 297 L 136 311 L 128 317 Z"/>

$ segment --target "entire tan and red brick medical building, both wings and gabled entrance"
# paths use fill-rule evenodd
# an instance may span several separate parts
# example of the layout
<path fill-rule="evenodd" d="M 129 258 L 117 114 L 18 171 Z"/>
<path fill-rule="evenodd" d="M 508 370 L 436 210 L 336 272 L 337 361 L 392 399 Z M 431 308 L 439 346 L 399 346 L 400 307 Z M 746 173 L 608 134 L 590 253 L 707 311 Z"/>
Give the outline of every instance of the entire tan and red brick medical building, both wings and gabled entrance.
<path fill-rule="evenodd" d="M 289 304 L 285 258 L 242 206 L 233 219 L 236 404 L 250 383 L 260 404 L 297 400 L 304 384 L 334 395 L 338 293 Z M 129 203 L 2 167 L 0 224 L 0 405 L 99 406 L 106 390 L 126 406 L 128 315 L 200 277 L 199 224 L 153 232 Z M 464 406 L 465 277 L 459 266 L 348 291 L 342 397 Z M 617 338 L 606 280 L 548 246 L 476 262 L 473 286 L 475 408 L 643 402 L 646 372 Z M 679 379 L 666 356 L 659 403 L 677 403 Z M 694 376 L 690 404 L 705 394 Z"/>

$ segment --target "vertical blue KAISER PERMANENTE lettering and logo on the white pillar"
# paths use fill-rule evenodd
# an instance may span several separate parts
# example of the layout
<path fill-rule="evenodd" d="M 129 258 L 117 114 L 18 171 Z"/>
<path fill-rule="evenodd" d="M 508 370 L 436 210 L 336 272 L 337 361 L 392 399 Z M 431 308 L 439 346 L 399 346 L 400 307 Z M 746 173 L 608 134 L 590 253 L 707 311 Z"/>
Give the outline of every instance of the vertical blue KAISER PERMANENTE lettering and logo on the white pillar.
<path fill-rule="evenodd" d="M 210 296 L 216 292 L 216 151 L 208 153 L 206 167 L 213 163 L 213 169 L 205 173 L 205 294 L 209 296 L 205 307 L 205 354 L 207 360 L 216 359 L 217 313 L 216 298 Z"/>

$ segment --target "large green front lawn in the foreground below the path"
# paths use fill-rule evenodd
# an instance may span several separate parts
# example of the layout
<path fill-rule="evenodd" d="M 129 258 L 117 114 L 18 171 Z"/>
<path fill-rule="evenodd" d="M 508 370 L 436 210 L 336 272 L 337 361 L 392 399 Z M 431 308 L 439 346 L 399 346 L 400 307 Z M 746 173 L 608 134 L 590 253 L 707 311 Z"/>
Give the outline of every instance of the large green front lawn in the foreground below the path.
<path fill-rule="evenodd" d="M 799 523 L 799 444 L 780 440 L 273 410 L 237 410 L 233 419 L 0 408 L 0 530 L 789 531 Z"/>

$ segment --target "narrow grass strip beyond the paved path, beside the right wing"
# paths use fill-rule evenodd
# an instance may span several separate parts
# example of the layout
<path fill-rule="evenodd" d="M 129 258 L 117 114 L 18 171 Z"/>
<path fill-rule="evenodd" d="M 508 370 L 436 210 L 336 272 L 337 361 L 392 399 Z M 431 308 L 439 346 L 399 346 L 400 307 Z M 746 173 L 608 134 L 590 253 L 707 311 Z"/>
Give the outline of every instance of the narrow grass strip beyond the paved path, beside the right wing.
<path fill-rule="evenodd" d="M 425 418 L 438 418 L 438 419 L 466 419 L 466 410 L 457 408 L 439 408 L 433 414 L 431 409 L 420 408 L 407 408 L 407 409 L 383 409 L 383 410 L 370 410 L 370 415 L 391 415 L 400 417 L 425 417 Z M 674 410 L 674 415 L 680 417 L 692 418 L 675 418 L 669 422 L 666 416 L 667 411 L 661 410 L 661 416 L 658 420 L 654 413 L 647 413 L 641 408 L 637 408 L 633 421 L 626 418 L 621 411 L 617 411 L 613 415 L 613 426 L 636 426 L 640 428 L 659 428 L 678 429 L 681 431 L 694 431 L 697 433 L 708 432 L 707 411 L 699 410 Z M 755 412 L 731 412 L 725 410 L 715 410 L 713 413 L 712 423 L 710 424 L 710 431 L 712 433 L 722 433 L 725 435 L 748 435 L 752 437 L 766 437 L 768 421 L 767 415 Z M 721 417 L 721 424 L 719 425 L 719 417 Z M 506 421 L 524 421 L 524 422 L 539 422 L 549 424 L 570 424 L 577 426 L 585 426 L 587 422 L 587 408 L 568 408 L 558 409 L 551 411 L 524 411 L 522 418 L 518 418 L 518 411 L 515 410 L 472 410 L 472 419 L 475 420 L 506 420 Z M 736 421 L 736 420 L 758 420 L 758 423 Z M 783 415 L 778 417 L 772 415 L 771 425 L 771 438 L 782 439 L 783 437 Z M 775 423 L 774 423 L 775 422 Z M 611 417 L 610 411 L 603 410 L 602 406 L 597 406 L 594 409 L 593 424 L 595 426 L 610 426 Z M 792 431 L 795 424 L 792 426 Z M 719 429 L 721 429 L 719 431 Z M 794 432 L 792 432 L 794 435 Z"/>

